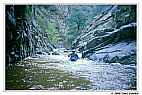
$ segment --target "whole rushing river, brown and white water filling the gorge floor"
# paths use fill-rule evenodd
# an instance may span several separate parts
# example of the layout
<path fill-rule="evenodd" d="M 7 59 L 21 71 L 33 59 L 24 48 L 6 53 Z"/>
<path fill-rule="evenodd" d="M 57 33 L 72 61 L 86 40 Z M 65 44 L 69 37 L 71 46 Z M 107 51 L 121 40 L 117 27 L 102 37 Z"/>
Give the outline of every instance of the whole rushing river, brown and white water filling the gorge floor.
<path fill-rule="evenodd" d="M 136 66 L 68 61 L 64 55 L 28 57 L 10 67 L 6 89 L 42 90 L 133 90 L 136 89 Z"/>

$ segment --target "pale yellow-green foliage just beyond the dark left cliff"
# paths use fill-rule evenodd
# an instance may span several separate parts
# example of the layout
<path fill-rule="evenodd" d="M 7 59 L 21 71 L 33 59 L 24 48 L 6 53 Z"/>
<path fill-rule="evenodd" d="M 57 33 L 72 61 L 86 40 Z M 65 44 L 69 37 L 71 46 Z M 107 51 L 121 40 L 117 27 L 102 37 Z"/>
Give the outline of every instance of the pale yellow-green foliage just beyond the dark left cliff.
<path fill-rule="evenodd" d="M 41 31 L 48 34 L 47 38 L 49 42 L 56 45 L 60 37 L 57 29 L 57 22 L 55 22 L 55 19 L 51 19 L 52 16 L 54 17 L 54 13 L 56 13 L 53 7 L 54 6 L 38 6 L 38 10 L 36 10 L 36 19 Z"/>

